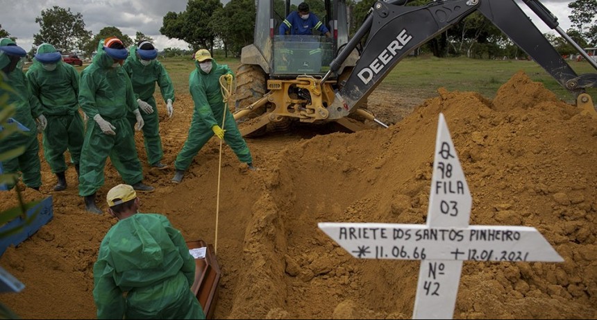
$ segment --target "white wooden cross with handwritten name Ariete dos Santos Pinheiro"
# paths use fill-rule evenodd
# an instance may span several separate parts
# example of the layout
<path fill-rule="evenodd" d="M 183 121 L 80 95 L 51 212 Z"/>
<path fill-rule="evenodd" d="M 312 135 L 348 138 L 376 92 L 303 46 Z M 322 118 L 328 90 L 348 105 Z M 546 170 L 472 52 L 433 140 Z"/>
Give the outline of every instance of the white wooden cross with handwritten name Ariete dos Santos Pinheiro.
<path fill-rule="evenodd" d="M 471 193 L 439 114 L 427 224 L 328 223 L 318 226 L 355 258 L 421 260 L 413 319 L 452 319 L 462 261 L 564 259 L 535 228 L 469 226 Z"/>

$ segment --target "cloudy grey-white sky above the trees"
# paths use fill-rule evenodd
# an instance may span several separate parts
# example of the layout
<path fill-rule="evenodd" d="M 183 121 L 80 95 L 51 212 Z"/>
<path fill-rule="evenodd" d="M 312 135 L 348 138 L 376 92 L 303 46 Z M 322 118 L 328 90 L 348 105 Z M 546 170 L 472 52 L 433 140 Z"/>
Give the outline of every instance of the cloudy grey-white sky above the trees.
<path fill-rule="evenodd" d="M 298 0 L 296 0 L 298 1 Z M 545 26 L 521 0 L 516 0 L 542 33 L 552 32 Z M 228 3 L 228 0 L 224 0 Z M 560 28 L 566 31 L 570 28 L 571 10 L 569 0 L 542 0 L 560 22 Z M 293 0 L 294 3 L 294 0 Z M 155 47 L 162 50 L 169 47 L 188 49 L 182 40 L 168 39 L 160 35 L 162 19 L 167 12 L 182 12 L 187 8 L 187 0 L 0 0 L 0 24 L 11 37 L 17 37 L 17 44 L 29 51 L 33 47 L 33 35 L 40 32 L 40 25 L 35 23 L 35 17 L 41 17 L 42 10 L 60 6 L 70 8 L 73 14 L 81 12 L 85 29 L 93 35 L 106 26 L 115 26 L 131 39 L 135 39 L 137 31 L 152 37 Z"/>

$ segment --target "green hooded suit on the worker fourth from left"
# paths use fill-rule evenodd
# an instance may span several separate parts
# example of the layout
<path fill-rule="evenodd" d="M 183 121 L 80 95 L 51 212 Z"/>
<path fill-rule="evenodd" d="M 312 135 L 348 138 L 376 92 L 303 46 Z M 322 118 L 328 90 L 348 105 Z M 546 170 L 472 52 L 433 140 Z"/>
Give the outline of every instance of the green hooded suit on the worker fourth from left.
<path fill-rule="evenodd" d="M 137 99 L 141 99 L 153 107 L 153 112 L 149 115 L 141 111 L 141 117 L 145 121 L 142 130 L 147 160 L 149 165 L 156 165 L 164 157 L 164 151 L 162 151 L 162 139 L 159 132 L 160 119 L 158 118 L 158 108 L 155 107 L 155 99 L 153 98 L 155 83 L 160 87 L 164 101 L 170 99 L 173 103 L 174 86 L 165 67 L 158 60 L 154 60 L 150 65 L 144 66 L 135 54 L 137 47 L 131 46 L 129 50 L 128 58 L 126 58 L 122 67 L 124 67 L 126 73 L 131 78 L 133 91 Z M 131 122 L 131 127 L 134 128 L 137 119 L 135 119 L 135 115 L 132 112 L 128 114 L 128 121 Z"/>

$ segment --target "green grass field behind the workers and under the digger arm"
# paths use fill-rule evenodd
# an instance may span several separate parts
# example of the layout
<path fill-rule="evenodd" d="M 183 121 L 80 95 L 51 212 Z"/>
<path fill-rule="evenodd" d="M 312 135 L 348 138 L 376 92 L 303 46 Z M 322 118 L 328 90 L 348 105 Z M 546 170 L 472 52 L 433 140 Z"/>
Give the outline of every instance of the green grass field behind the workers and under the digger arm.
<path fill-rule="evenodd" d="M 227 64 L 236 71 L 240 61 L 235 58 L 215 57 L 221 64 Z M 577 74 L 597 73 L 589 62 L 567 60 Z M 178 93 L 188 93 L 189 74 L 194 69 L 190 57 L 162 58 L 174 89 Z M 76 67 L 79 71 L 84 67 Z M 524 71 L 532 81 L 541 82 L 560 99 L 574 103 L 574 96 L 557 83 L 540 65 L 528 60 L 478 60 L 469 58 L 405 58 L 396 65 L 380 83 L 378 89 L 392 92 L 417 93 L 421 98 L 437 96 L 437 89 L 445 87 L 450 91 L 479 92 L 493 99 L 501 85 L 517 71 Z M 597 102 L 597 89 L 587 91 Z"/>

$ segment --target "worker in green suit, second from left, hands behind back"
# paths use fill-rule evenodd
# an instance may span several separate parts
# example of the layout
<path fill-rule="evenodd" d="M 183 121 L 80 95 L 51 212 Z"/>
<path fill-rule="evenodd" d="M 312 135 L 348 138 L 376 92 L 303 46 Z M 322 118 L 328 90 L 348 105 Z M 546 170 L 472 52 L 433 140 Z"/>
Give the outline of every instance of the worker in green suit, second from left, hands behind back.
<path fill-rule="evenodd" d="M 62 191 L 67 188 L 64 153 L 69 151 L 78 177 L 84 140 L 83 118 L 78 112 L 78 71 L 62 62 L 62 55 L 51 44 L 43 43 L 37 47 L 26 76 L 48 120 L 43 130 L 44 156 L 58 178 L 54 191 Z"/>

